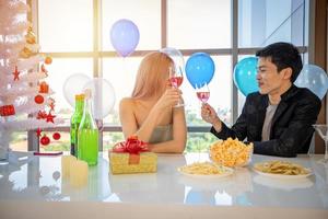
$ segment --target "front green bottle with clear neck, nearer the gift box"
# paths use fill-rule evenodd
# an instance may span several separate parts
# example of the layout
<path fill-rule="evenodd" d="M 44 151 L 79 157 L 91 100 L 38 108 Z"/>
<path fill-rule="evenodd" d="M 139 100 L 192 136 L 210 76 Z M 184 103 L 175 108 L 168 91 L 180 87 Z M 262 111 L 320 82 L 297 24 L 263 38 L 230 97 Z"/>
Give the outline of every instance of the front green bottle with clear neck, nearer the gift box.
<path fill-rule="evenodd" d="M 85 90 L 84 111 L 78 131 L 78 158 L 89 165 L 98 160 L 98 129 L 92 116 L 91 90 Z"/>

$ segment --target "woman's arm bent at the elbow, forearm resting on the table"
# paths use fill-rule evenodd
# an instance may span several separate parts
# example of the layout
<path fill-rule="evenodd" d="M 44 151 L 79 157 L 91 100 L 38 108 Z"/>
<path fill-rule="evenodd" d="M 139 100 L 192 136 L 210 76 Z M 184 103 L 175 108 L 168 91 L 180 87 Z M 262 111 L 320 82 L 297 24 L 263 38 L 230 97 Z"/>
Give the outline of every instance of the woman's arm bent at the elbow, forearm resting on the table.
<path fill-rule="evenodd" d="M 153 152 L 183 153 L 186 147 L 187 126 L 184 107 L 173 108 L 173 139 L 151 145 Z"/>

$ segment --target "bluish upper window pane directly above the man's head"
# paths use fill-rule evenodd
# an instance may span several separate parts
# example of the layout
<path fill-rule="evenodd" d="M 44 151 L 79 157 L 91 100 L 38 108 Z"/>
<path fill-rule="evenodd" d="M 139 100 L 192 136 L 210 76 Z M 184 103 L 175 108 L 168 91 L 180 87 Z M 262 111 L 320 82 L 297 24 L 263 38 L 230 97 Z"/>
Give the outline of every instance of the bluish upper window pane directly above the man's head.
<path fill-rule="evenodd" d="M 304 20 L 306 2 L 239 0 L 239 47 L 263 47 L 274 42 L 291 42 L 296 46 L 306 46 L 304 38 L 304 33 L 307 33 Z"/>

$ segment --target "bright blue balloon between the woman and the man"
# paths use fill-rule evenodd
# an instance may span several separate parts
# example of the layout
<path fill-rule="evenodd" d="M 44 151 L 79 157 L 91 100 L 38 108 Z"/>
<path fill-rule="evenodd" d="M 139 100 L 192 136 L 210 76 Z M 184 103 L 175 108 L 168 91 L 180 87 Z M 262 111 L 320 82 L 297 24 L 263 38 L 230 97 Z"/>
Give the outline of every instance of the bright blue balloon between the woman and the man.
<path fill-rule="evenodd" d="M 186 76 L 190 84 L 196 89 L 196 84 L 209 83 L 215 71 L 213 59 L 206 53 L 192 54 L 186 64 Z"/>

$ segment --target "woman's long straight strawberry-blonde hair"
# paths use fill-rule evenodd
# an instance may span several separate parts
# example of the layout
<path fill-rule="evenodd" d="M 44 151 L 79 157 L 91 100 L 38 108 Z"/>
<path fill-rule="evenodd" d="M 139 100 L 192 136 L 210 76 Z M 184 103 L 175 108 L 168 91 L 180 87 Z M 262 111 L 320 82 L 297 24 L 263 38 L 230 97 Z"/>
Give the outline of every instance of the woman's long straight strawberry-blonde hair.
<path fill-rule="evenodd" d="M 148 54 L 139 66 L 132 97 L 148 99 L 161 95 L 166 89 L 168 69 L 173 65 L 173 60 L 166 54 Z"/>

